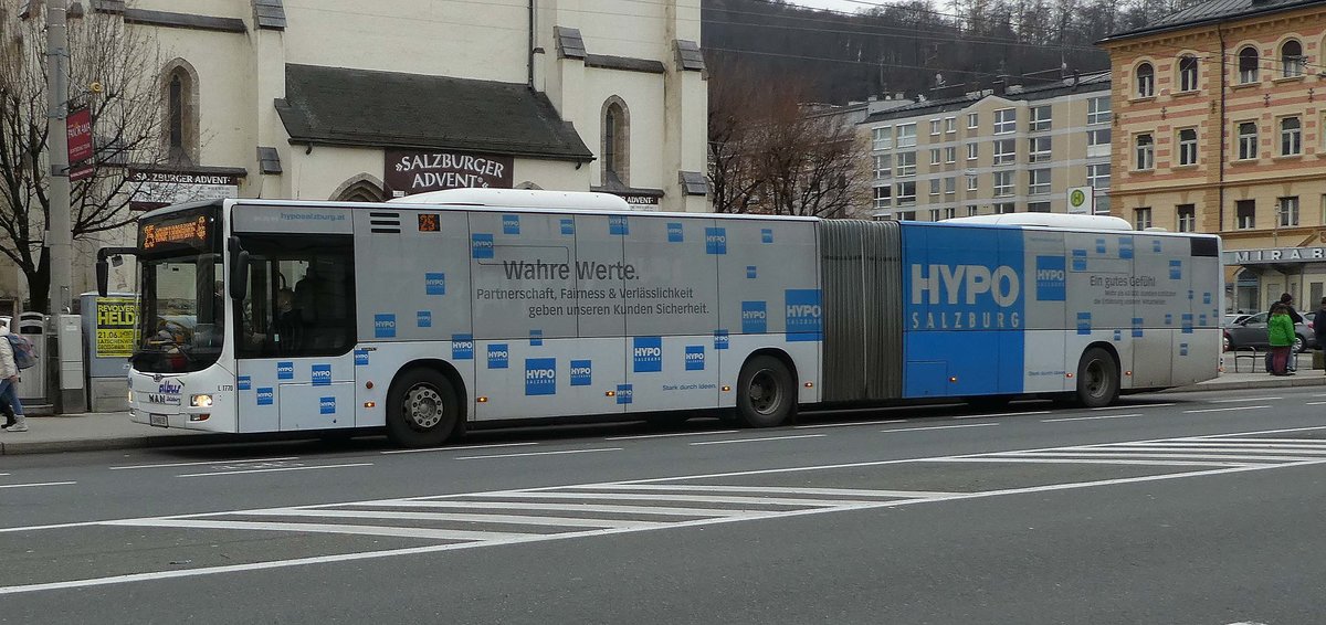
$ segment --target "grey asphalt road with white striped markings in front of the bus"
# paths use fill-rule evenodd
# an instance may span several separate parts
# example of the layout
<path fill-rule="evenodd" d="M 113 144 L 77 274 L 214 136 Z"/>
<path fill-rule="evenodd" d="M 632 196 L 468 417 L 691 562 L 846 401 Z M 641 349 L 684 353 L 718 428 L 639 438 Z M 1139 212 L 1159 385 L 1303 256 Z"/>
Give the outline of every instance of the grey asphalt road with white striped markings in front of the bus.
<path fill-rule="evenodd" d="M 5 457 L 0 622 L 1322 622 L 1314 391 Z"/>

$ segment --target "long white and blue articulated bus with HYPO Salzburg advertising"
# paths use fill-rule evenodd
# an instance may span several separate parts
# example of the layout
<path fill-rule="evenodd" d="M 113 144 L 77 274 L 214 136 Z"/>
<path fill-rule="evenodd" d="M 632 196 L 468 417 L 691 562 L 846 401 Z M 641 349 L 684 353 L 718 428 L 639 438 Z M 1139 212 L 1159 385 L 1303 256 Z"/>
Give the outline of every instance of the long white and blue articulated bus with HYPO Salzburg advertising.
<path fill-rule="evenodd" d="M 1215 377 L 1220 240 L 1111 217 L 630 212 L 595 193 L 224 200 L 138 220 L 133 420 L 467 425 L 1018 396 Z M 1009 220 L 1020 224 L 1009 224 Z"/>

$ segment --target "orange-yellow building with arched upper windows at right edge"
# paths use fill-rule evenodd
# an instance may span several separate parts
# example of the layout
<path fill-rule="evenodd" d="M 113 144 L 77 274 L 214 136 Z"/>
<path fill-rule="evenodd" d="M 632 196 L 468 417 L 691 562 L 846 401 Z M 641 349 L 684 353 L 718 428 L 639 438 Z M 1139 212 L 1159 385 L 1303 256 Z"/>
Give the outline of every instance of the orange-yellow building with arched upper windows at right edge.
<path fill-rule="evenodd" d="M 1113 213 L 1219 233 L 1229 310 L 1326 290 L 1326 0 L 1201 3 L 1101 42 Z"/>

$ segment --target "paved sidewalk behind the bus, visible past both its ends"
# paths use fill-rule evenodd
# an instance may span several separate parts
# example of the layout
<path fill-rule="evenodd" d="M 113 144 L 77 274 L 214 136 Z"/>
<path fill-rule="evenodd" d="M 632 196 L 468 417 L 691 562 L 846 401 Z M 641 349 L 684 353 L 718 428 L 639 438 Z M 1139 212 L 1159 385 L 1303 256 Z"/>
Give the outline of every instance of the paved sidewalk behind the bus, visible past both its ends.
<path fill-rule="evenodd" d="M 1298 360 L 1298 375 L 1273 377 L 1265 372 L 1250 372 L 1249 360 L 1242 359 L 1233 371 L 1233 360 L 1225 356 L 1227 372 L 1215 380 L 1166 392 L 1187 393 L 1203 391 L 1231 391 L 1241 388 L 1285 388 L 1326 385 L 1326 373 L 1311 369 L 1311 358 Z M 1260 364 L 1260 363 L 1258 363 Z M 88 413 L 65 417 L 28 417 L 28 432 L 0 432 L 0 456 L 37 454 L 57 452 L 93 452 L 107 449 L 163 448 L 175 445 L 219 445 L 227 442 L 269 441 L 264 434 L 212 434 L 180 429 L 150 428 L 131 422 L 127 413 Z M 280 437 L 280 436 L 278 436 Z"/>

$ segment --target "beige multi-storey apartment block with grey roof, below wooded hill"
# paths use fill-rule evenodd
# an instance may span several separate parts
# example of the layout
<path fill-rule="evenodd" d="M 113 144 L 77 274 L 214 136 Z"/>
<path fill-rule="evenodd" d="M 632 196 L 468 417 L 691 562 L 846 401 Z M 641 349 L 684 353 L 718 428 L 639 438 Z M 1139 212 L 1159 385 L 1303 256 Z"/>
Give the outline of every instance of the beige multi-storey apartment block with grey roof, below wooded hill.
<path fill-rule="evenodd" d="M 862 123 L 873 215 L 1109 212 L 1110 120 L 1109 73 L 874 113 Z M 1073 189 L 1083 191 L 1079 201 Z"/>

